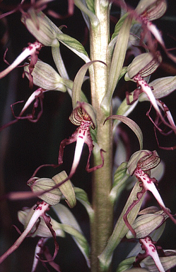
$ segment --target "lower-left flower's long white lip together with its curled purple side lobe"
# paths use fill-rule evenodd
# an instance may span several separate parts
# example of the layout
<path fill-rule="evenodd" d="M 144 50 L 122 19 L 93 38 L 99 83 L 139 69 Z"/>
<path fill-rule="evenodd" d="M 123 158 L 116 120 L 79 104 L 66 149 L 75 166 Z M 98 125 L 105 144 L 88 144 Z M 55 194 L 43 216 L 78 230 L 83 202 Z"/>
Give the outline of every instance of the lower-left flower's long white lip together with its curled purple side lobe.
<path fill-rule="evenodd" d="M 47 227 L 49 228 L 53 238 L 54 238 L 54 243 L 55 243 L 55 252 L 53 255 L 52 260 L 55 258 L 55 256 L 57 255 L 58 252 L 58 244 L 56 241 L 56 234 L 55 231 L 52 228 L 52 225 L 50 224 L 50 217 L 46 215 L 46 212 L 49 210 L 50 205 L 47 204 L 45 201 L 42 201 L 41 203 L 37 204 L 36 207 L 34 208 L 34 212 L 24 230 L 24 232 L 20 235 L 20 237 L 16 240 L 16 242 L 0 257 L 0 263 L 2 263 L 11 253 L 13 253 L 19 246 L 20 244 L 23 242 L 23 240 L 27 237 L 27 235 L 31 232 L 31 230 L 33 229 L 33 227 L 36 227 L 36 230 L 38 228 L 38 219 L 40 217 L 43 217 L 45 224 L 47 225 Z M 47 260 L 49 261 L 49 260 Z"/>

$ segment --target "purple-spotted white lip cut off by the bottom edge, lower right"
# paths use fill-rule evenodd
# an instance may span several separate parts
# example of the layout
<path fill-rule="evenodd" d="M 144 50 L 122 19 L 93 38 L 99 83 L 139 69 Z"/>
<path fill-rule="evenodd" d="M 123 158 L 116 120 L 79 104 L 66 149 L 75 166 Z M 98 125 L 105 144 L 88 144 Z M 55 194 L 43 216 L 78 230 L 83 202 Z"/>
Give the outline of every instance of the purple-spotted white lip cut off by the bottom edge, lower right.
<path fill-rule="evenodd" d="M 163 268 L 163 266 L 161 264 L 161 261 L 159 259 L 156 247 L 153 244 L 150 237 L 147 236 L 144 239 L 140 239 L 139 241 L 142 244 L 141 245 L 142 249 L 145 250 L 146 254 L 150 255 L 152 257 L 152 259 L 154 260 L 155 265 L 158 268 L 159 272 L 165 272 L 165 270 L 164 270 L 164 268 Z"/>

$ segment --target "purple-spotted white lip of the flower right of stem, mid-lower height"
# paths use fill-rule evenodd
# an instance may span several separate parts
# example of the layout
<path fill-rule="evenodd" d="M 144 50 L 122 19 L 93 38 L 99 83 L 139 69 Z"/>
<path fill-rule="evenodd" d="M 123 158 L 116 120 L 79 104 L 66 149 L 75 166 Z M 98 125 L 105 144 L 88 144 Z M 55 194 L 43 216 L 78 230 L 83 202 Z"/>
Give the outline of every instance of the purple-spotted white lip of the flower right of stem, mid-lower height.
<path fill-rule="evenodd" d="M 147 173 L 145 173 L 140 167 L 137 167 L 134 175 L 139 179 L 139 182 L 142 182 L 142 187 L 147 191 L 150 191 L 155 199 L 157 200 L 158 204 L 165 208 L 165 205 L 152 181 L 152 178 L 149 177 Z"/>

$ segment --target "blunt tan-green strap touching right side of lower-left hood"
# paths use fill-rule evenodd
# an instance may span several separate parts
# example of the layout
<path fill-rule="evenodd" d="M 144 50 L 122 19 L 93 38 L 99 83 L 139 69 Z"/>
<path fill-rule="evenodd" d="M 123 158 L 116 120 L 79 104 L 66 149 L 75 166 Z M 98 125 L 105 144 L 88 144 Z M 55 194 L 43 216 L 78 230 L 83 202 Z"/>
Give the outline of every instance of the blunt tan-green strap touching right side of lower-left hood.
<path fill-rule="evenodd" d="M 52 177 L 55 184 L 58 184 L 62 182 L 62 180 L 66 179 L 68 176 L 65 171 L 62 171 Z M 59 186 L 59 190 L 62 192 L 64 197 L 66 198 L 66 203 L 70 208 L 73 208 L 76 205 L 76 197 L 73 190 L 73 187 L 71 185 L 70 180 L 67 180 L 67 182 L 63 183 L 61 186 Z"/>

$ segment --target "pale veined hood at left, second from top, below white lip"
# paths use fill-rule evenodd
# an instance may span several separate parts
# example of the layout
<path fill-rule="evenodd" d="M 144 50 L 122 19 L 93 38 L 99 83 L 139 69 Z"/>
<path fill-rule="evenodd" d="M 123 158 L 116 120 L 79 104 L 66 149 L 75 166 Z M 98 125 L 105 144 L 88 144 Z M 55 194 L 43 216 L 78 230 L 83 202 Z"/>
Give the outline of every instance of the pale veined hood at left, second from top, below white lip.
<path fill-rule="evenodd" d="M 24 66 L 25 75 L 29 79 L 29 65 Z M 46 90 L 66 92 L 64 79 L 47 63 L 38 60 L 32 71 L 35 85 Z"/>

